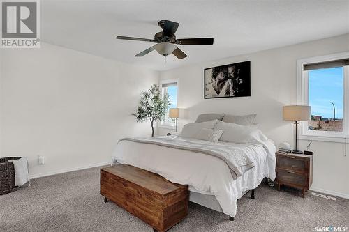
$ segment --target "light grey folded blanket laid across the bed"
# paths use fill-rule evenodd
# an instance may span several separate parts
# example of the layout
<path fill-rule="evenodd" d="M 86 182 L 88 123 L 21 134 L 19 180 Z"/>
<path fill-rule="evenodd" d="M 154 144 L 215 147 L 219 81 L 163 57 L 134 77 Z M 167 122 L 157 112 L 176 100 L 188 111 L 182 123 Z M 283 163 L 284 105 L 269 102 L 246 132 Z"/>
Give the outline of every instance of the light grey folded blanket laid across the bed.
<path fill-rule="evenodd" d="M 166 146 L 169 148 L 176 148 L 181 150 L 191 150 L 197 153 L 213 155 L 223 160 L 232 173 L 232 178 L 235 180 L 242 173 L 254 167 L 253 161 L 248 156 L 251 153 L 251 147 L 232 146 L 225 143 L 211 143 L 209 141 L 202 141 L 198 139 L 182 139 L 181 137 L 142 137 L 142 138 L 124 138 L 128 140 L 143 144 L 156 144 L 158 146 Z"/>

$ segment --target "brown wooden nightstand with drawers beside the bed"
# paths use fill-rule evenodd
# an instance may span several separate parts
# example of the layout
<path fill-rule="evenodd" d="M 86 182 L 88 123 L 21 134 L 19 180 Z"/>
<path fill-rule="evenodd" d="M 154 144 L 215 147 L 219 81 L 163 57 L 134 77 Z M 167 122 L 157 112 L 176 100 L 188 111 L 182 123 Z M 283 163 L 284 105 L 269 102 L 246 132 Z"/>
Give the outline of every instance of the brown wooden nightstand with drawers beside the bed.
<path fill-rule="evenodd" d="M 313 155 L 276 153 L 276 182 L 302 190 L 309 190 L 313 183 Z"/>

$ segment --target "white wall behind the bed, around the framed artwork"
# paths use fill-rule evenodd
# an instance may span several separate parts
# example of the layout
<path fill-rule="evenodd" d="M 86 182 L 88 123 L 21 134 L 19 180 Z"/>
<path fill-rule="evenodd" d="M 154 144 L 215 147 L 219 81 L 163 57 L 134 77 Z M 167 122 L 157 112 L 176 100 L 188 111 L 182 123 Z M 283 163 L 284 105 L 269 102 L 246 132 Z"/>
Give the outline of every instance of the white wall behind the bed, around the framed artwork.
<path fill-rule="evenodd" d="M 179 119 L 179 128 L 202 113 L 256 113 L 260 128 L 276 145 L 292 144 L 292 123 L 283 121 L 282 107 L 297 101 L 297 59 L 346 51 L 349 34 L 168 70 L 160 77 L 180 80 L 177 105 L 186 109 L 186 118 Z M 251 97 L 204 100 L 204 68 L 241 61 L 251 61 Z M 168 131 L 159 128 L 159 134 Z M 300 148 L 306 144 L 301 141 Z M 344 144 L 314 141 L 311 149 L 315 152 L 312 189 L 349 198 L 349 157 L 344 156 Z"/>

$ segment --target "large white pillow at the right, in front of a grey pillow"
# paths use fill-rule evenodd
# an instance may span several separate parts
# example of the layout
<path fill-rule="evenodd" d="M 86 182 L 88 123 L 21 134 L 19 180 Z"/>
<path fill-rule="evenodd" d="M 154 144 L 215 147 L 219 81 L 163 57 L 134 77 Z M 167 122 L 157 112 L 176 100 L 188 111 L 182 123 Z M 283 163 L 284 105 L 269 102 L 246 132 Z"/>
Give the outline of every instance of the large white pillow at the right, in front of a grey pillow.
<path fill-rule="evenodd" d="M 224 130 L 219 141 L 239 144 L 263 144 L 268 138 L 258 129 L 235 123 L 218 121 L 214 126 L 216 130 Z"/>

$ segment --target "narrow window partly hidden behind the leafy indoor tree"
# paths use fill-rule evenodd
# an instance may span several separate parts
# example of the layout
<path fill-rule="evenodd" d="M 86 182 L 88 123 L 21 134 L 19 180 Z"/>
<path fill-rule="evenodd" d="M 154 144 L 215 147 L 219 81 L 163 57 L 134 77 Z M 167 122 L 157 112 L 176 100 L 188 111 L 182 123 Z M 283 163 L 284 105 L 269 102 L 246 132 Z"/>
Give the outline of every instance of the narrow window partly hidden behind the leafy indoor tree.
<path fill-rule="evenodd" d="M 174 118 L 168 116 L 170 108 L 177 108 L 177 92 L 178 92 L 178 81 L 177 80 L 166 80 L 161 82 L 161 93 L 165 95 L 168 93 L 170 95 L 171 105 L 166 111 L 165 119 L 160 122 L 160 127 L 174 128 L 175 121 Z"/>

